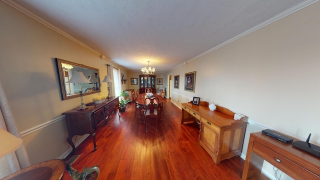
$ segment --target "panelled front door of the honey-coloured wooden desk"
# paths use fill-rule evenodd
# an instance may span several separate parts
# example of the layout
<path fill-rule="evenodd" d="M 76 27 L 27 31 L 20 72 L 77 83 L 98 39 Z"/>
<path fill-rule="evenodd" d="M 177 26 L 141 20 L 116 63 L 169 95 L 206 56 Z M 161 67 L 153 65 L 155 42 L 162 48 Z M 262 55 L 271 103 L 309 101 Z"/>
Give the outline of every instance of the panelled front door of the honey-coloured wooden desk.
<path fill-rule="evenodd" d="M 208 152 L 211 156 L 216 157 L 218 150 L 218 132 L 212 128 L 213 124 L 208 121 L 200 121 L 200 135 L 199 141 L 205 145 L 204 149 L 209 150 Z M 213 125 L 214 126 L 214 125 Z M 200 143 L 201 144 L 201 143 Z"/>

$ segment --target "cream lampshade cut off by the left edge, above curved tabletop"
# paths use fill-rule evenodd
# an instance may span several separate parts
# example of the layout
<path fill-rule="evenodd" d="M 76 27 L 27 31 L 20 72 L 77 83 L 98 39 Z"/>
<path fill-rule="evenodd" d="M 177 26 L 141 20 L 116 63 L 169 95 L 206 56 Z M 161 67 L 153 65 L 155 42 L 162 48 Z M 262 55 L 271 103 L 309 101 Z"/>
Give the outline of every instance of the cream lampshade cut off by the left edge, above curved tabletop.
<path fill-rule="evenodd" d="M 2 157 L 19 148 L 22 143 L 22 139 L 0 128 L 0 143 L 0 157 Z"/>

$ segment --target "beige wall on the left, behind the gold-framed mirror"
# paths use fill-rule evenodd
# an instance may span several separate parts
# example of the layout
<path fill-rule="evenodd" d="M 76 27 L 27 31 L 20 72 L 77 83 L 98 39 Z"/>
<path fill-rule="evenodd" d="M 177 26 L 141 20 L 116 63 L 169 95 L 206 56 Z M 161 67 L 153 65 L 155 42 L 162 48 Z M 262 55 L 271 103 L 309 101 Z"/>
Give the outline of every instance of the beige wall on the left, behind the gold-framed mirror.
<path fill-rule="evenodd" d="M 80 105 L 80 98 L 61 100 L 54 58 L 99 68 L 101 80 L 106 63 L 127 72 L 2 1 L 0 17 L 0 81 L 30 161 L 58 158 L 70 150 L 61 113 Z M 83 101 L 98 94 L 107 94 L 106 83 L 101 83 L 100 93 L 83 96 Z"/>

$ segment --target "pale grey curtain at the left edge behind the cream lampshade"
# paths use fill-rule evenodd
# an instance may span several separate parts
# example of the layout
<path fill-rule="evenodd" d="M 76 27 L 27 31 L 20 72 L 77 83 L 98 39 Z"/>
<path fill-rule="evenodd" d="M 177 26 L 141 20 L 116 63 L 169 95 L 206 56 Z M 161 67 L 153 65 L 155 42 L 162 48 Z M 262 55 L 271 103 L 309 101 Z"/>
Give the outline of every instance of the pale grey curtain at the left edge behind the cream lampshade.
<path fill-rule="evenodd" d="M 16 127 L 8 100 L 4 93 L 2 84 L 0 82 L 0 128 L 7 130 L 11 134 L 21 138 L 20 133 Z M 1 147 L 0 147 L 1 148 Z M 13 173 L 19 169 L 30 165 L 23 143 L 12 153 L 9 153 L 0 158 L 0 178 Z"/>

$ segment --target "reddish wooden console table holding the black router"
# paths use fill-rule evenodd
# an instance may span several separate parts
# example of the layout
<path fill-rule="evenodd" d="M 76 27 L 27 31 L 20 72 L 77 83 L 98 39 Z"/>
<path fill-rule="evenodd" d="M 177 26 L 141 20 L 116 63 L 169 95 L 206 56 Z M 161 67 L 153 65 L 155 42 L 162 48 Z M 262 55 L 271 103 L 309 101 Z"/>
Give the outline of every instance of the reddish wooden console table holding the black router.
<path fill-rule="evenodd" d="M 320 157 L 262 132 L 250 133 L 242 180 L 268 179 L 261 174 L 263 160 L 294 179 L 320 179 Z"/>

